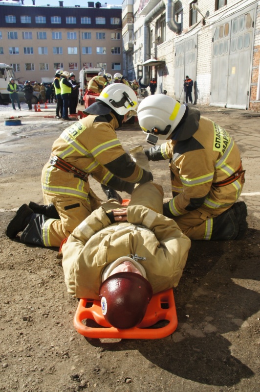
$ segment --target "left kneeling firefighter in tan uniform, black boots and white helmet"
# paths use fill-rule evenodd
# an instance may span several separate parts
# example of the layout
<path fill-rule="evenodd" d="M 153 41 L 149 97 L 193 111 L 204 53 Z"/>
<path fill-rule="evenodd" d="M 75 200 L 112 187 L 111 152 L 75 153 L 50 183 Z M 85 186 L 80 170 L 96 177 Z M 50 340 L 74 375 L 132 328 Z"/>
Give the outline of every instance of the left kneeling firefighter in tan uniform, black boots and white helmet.
<path fill-rule="evenodd" d="M 7 227 L 9 238 L 22 231 L 25 244 L 60 246 L 100 205 L 89 188 L 89 174 L 109 188 L 128 193 L 133 184 L 152 180 L 152 173 L 130 159 L 115 133 L 123 119 L 136 114 L 136 107 L 131 88 L 113 84 L 86 109 L 89 116 L 63 131 L 42 172 L 43 199 L 48 205 L 39 211 L 34 203 L 23 204 Z"/>

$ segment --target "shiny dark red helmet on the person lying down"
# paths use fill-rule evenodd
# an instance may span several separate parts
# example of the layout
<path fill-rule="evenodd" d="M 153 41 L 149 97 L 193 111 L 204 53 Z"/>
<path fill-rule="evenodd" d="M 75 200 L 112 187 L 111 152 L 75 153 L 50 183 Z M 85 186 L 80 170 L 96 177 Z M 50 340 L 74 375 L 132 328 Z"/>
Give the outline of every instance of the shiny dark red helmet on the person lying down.
<path fill-rule="evenodd" d="M 134 272 L 115 273 L 99 288 L 104 318 L 118 329 L 140 324 L 152 298 L 152 286 Z"/>

